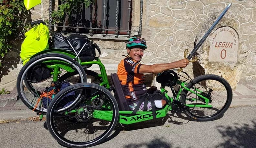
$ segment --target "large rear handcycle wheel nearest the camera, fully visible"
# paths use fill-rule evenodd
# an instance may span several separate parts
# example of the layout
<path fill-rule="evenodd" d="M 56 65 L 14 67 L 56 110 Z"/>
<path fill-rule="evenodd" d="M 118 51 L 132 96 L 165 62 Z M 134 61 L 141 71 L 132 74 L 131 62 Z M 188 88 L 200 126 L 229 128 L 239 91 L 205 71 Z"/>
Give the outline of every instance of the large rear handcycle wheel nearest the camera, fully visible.
<path fill-rule="evenodd" d="M 80 100 L 65 110 L 75 97 Z M 50 134 L 67 147 L 89 147 L 102 142 L 113 131 L 119 117 L 118 106 L 106 88 L 93 83 L 79 83 L 60 91 L 52 100 L 47 112 Z"/>

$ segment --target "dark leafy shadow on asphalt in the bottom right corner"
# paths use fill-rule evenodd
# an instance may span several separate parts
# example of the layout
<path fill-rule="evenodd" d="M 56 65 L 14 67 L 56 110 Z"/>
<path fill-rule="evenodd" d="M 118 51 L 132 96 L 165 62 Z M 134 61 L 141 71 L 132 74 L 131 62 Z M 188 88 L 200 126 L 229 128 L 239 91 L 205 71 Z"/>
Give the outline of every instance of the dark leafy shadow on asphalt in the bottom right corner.
<path fill-rule="evenodd" d="M 251 121 L 251 123 L 252 124 L 234 124 L 232 126 L 217 126 L 217 130 L 222 135 L 224 142 L 218 144 L 216 147 L 255 147 L 256 122 Z"/>

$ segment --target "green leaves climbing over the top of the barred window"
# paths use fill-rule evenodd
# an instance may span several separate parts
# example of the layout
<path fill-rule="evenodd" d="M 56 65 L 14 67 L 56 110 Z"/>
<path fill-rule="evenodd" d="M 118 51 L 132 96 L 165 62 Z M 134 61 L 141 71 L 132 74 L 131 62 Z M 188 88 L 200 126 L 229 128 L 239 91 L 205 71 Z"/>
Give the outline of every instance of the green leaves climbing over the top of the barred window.
<path fill-rule="evenodd" d="M 61 0 L 61 5 L 59 5 L 59 10 L 54 10 L 52 12 L 52 21 L 54 23 L 61 23 L 65 20 L 67 14 L 71 14 L 72 10 L 80 8 L 81 4 L 84 4 L 85 8 L 95 3 L 95 0 Z"/>

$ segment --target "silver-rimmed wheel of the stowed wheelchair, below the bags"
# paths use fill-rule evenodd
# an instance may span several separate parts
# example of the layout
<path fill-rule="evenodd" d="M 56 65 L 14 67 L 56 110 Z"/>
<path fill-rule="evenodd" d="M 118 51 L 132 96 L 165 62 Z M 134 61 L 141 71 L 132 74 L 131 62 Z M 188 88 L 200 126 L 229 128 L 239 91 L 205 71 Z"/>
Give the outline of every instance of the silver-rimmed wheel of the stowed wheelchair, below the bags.
<path fill-rule="evenodd" d="M 51 70 L 51 76 L 40 82 L 29 80 L 27 76 L 31 74 L 33 67 L 40 64 L 55 67 L 55 70 L 49 68 Z M 55 64 L 61 64 L 62 67 L 59 68 Z M 35 108 L 35 111 L 47 112 L 47 108 L 43 106 L 42 100 L 40 100 L 41 93 L 51 87 L 52 82 L 58 81 L 58 78 L 69 72 L 70 69 L 71 71 L 78 71 L 77 77 L 82 78 L 80 82 L 86 82 L 86 74 L 82 66 L 69 56 L 47 53 L 38 55 L 29 60 L 26 65 L 22 67 L 17 78 L 17 92 L 22 102 L 31 110 Z M 73 83 L 77 83 L 77 81 Z"/>

